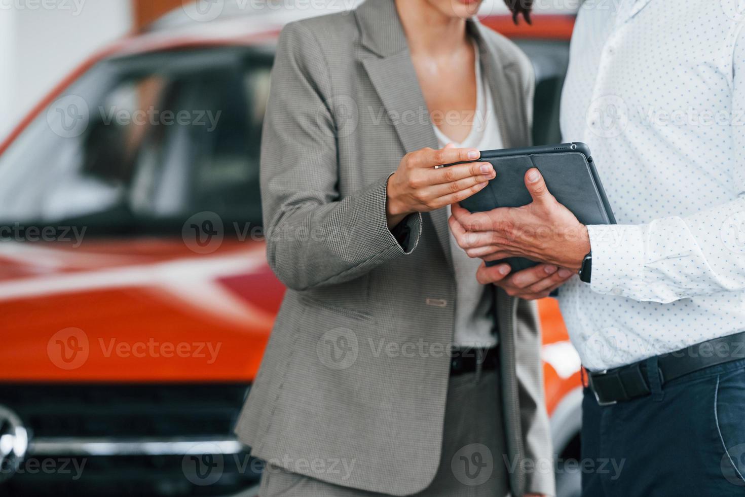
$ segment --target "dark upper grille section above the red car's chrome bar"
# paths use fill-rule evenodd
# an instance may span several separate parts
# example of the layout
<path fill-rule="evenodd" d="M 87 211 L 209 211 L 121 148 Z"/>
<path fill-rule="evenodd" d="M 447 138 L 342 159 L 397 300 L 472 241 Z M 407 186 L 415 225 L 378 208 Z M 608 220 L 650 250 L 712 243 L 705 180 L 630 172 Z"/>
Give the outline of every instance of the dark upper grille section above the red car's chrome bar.
<path fill-rule="evenodd" d="M 0 404 L 34 437 L 226 436 L 245 384 L 3 384 Z"/>

